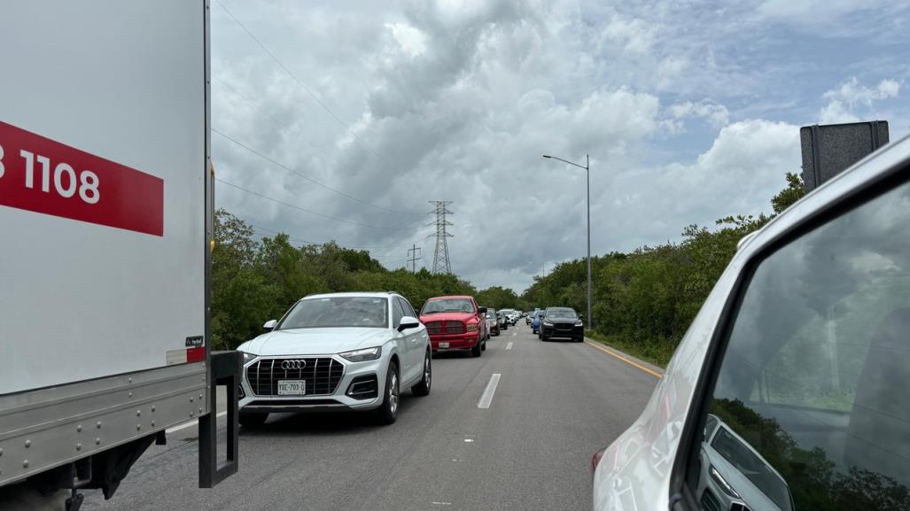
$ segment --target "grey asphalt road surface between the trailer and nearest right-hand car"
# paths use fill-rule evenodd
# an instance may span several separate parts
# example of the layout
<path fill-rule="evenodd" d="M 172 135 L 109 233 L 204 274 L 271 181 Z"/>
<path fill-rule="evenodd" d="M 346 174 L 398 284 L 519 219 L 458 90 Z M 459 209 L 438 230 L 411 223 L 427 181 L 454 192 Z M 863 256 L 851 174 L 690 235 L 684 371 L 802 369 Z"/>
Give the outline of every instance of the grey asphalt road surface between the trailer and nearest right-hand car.
<path fill-rule="evenodd" d="M 392 426 L 280 415 L 241 430 L 240 471 L 214 489 L 197 488 L 196 427 L 177 431 L 112 500 L 86 492 L 83 509 L 590 509 L 591 454 L 632 424 L 657 382 L 587 343 L 544 343 L 523 320 L 480 358 L 434 357 L 433 376 L 430 396 L 407 393 Z"/>

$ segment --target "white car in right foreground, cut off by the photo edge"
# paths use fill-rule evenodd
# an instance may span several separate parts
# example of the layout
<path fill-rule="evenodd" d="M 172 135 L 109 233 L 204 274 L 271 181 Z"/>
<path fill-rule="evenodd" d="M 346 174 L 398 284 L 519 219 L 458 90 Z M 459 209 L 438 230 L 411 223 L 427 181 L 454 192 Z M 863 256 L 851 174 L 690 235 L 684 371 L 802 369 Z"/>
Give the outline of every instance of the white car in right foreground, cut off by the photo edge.
<path fill-rule="evenodd" d="M 910 509 L 910 137 L 743 239 L 591 465 L 596 511 Z"/>

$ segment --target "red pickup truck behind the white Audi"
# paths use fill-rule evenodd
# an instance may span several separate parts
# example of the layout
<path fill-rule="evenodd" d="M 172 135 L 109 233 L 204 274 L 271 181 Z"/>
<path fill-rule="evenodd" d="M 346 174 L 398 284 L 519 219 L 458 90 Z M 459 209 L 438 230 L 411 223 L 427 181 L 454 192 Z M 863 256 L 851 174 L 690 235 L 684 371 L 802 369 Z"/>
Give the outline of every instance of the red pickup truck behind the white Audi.
<path fill-rule="evenodd" d="M 480 356 L 490 336 L 486 316 L 487 308 L 477 306 L 473 296 L 437 296 L 420 309 L 433 353 L 468 349 L 471 356 Z"/>

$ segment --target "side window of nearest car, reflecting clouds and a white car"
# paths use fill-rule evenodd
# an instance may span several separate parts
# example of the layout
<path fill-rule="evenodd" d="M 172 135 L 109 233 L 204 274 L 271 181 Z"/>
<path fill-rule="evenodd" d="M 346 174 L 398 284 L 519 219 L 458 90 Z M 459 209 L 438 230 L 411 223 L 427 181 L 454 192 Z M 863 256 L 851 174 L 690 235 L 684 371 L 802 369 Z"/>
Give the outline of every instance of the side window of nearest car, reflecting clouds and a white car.
<path fill-rule="evenodd" d="M 908 225 L 901 185 L 756 268 L 690 459 L 702 508 L 910 509 Z"/>

